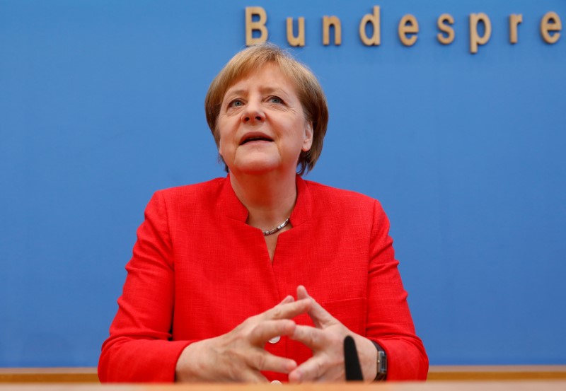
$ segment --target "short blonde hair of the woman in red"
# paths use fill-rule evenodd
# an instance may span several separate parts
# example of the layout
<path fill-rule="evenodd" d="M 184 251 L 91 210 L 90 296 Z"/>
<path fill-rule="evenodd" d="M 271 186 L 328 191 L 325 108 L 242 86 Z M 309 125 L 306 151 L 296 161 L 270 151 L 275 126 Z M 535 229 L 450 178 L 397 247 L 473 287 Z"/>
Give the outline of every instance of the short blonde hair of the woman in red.
<path fill-rule="evenodd" d="M 243 49 L 232 57 L 228 64 L 216 75 L 210 84 L 207 97 L 204 98 L 204 110 L 207 114 L 208 126 L 214 136 L 216 146 L 219 146 L 220 135 L 216 126 L 226 91 L 234 83 L 267 63 L 277 64 L 283 74 L 294 82 L 295 91 L 303 107 L 306 120 L 313 124 L 311 149 L 307 152 L 301 151 L 297 162 L 297 173 L 303 175 L 313 169 L 323 149 L 324 136 L 328 125 L 328 105 L 323 89 L 311 70 L 276 45 L 263 43 Z M 228 167 L 226 167 L 226 171 L 228 171 Z"/>

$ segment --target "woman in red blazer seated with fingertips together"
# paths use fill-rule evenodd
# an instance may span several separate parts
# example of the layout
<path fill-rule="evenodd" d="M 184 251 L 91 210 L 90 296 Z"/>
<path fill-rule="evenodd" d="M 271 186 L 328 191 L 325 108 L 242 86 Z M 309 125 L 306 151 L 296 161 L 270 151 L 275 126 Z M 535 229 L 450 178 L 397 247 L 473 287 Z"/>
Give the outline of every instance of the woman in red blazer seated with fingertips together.
<path fill-rule="evenodd" d="M 344 380 L 347 335 L 364 380 L 426 378 L 379 202 L 301 177 L 328 122 L 316 77 L 249 47 L 205 109 L 229 175 L 154 194 L 100 380 Z"/>

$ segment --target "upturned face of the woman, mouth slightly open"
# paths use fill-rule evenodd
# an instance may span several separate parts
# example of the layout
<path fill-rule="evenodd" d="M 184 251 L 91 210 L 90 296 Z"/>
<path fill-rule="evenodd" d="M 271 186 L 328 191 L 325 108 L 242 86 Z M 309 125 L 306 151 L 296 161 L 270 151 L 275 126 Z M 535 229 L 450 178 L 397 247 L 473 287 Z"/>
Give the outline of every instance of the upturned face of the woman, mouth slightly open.
<path fill-rule="evenodd" d="M 220 155 L 234 174 L 294 173 L 313 142 L 293 83 L 271 63 L 226 91 L 217 124 Z"/>

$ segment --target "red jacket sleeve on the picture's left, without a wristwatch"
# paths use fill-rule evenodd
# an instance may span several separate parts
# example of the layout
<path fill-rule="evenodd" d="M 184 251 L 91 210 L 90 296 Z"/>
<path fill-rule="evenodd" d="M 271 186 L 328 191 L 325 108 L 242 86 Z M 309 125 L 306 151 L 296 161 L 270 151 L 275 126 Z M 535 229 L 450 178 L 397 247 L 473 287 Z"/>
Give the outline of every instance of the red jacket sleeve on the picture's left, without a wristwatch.
<path fill-rule="evenodd" d="M 101 382 L 173 382 L 190 341 L 171 341 L 175 294 L 167 207 L 154 194 L 137 230 L 132 259 L 110 337 L 98 362 Z"/>

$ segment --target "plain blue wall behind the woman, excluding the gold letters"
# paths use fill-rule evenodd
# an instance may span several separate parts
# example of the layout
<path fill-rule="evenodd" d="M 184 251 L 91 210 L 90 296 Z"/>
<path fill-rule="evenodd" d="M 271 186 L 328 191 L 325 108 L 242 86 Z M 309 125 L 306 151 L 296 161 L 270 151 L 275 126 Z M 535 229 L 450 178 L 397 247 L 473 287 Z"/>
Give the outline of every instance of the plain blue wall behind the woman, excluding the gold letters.
<path fill-rule="evenodd" d="M 306 18 L 294 54 L 330 105 L 308 179 L 381 200 L 431 363 L 566 363 L 566 37 L 539 33 L 548 11 L 566 28 L 565 1 L 1 0 L 0 366 L 96 365 L 151 194 L 224 175 L 204 94 L 257 5 L 284 47 L 285 18 Z M 475 12 L 493 33 L 473 55 Z"/>

